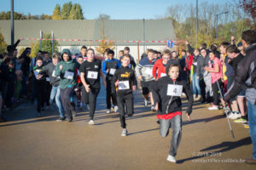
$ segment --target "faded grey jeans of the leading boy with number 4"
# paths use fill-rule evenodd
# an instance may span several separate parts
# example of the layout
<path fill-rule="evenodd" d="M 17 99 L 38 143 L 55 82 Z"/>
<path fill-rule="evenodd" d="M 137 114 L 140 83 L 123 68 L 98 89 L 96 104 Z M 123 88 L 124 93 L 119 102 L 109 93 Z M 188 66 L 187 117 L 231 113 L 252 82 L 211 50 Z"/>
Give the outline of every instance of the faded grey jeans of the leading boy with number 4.
<path fill-rule="evenodd" d="M 168 135 L 170 127 L 172 127 L 172 140 L 169 155 L 176 156 L 177 147 L 182 137 L 182 116 L 177 115 L 172 119 L 160 119 L 160 135 L 163 138 Z"/>

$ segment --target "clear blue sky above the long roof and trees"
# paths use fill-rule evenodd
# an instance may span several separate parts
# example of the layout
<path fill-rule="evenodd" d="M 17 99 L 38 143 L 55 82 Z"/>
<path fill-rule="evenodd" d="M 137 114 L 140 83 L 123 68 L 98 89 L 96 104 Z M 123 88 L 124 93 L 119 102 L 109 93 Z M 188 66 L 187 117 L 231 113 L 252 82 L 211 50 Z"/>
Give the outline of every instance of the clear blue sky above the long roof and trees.
<path fill-rule="evenodd" d="M 14 0 L 15 12 L 21 14 L 52 14 L 55 4 L 70 2 L 71 0 Z M 206 0 L 198 0 L 199 4 Z M 165 16 L 169 6 L 174 4 L 195 4 L 195 0 L 73 0 L 83 8 L 87 20 L 96 19 L 99 14 L 108 14 L 113 20 L 157 19 Z M 230 0 L 214 0 L 209 3 L 224 4 Z M 0 12 L 10 10 L 10 0 L 1 0 Z"/>

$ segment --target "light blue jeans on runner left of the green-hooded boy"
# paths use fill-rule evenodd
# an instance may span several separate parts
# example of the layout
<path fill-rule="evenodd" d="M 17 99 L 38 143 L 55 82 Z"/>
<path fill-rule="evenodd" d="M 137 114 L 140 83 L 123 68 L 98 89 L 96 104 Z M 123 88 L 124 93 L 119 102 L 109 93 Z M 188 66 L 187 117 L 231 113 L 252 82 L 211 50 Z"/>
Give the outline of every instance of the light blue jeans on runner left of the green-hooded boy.
<path fill-rule="evenodd" d="M 61 104 L 61 91 L 60 91 L 59 86 L 51 88 L 50 97 L 49 97 L 50 105 L 53 104 L 54 99 L 55 99 L 56 105 L 59 109 L 60 116 L 64 117 L 64 109 L 63 109 L 63 106 Z"/>

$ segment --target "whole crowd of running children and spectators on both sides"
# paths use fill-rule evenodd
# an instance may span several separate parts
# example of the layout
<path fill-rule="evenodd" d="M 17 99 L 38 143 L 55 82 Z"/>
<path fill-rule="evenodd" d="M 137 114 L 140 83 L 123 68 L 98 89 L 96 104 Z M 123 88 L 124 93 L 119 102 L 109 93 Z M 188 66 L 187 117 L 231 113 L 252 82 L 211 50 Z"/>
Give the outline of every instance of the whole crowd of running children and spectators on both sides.
<path fill-rule="evenodd" d="M 94 49 L 83 46 L 73 56 L 69 49 L 61 54 L 38 51 L 30 58 L 31 48 L 17 57 L 18 42 L 0 55 L 0 116 L 20 99 L 37 99 L 37 115 L 50 105 L 58 108 L 58 122 L 73 122 L 83 104 L 89 110 L 89 124 L 95 123 L 96 98 L 101 84 L 106 88 L 107 114 L 119 112 L 122 136 L 126 136 L 125 115 L 134 114 L 133 92 L 142 88 L 144 106 L 156 111 L 160 135 L 166 137 L 172 127 L 172 142 L 167 161 L 176 162 L 182 135 L 182 96 L 189 100 L 186 115 L 190 121 L 193 102 L 210 106 L 210 111 L 230 107 L 234 122 L 250 128 L 253 159 L 256 163 L 256 32 L 244 31 L 241 42 L 212 44 L 187 49 L 181 54 L 172 49 L 162 52 L 147 49 L 139 61 L 130 48 L 115 57 L 106 49 L 104 58 L 96 58 Z M 218 51 L 219 49 L 219 51 Z M 102 77 L 102 83 L 101 83 Z M 139 86 L 138 86 L 139 85 Z M 222 98 L 224 96 L 224 98 Z M 76 98 L 76 99 L 75 99 Z"/>

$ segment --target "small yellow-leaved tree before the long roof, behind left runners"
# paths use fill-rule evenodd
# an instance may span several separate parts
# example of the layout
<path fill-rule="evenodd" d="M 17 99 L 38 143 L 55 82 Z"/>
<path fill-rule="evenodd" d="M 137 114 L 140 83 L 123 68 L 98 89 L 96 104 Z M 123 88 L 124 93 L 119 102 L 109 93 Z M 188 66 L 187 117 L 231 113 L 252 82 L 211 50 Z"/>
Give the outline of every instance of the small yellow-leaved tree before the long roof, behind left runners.
<path fill-rule="evenodd" d="M 44 38 L 51 38 L 50 33 L 44 34 Z M 54 52 L 58 52 L 58 42 L 55 41 L 54 43 Z M 32 46 L 32 53 L 38 54 L 38 51 L 40 50 L 40 41 L 35 42 L 35 44 Z M 52 41 L 51 40 L 43 40 L 42 41 L 42 51 L 48 51 L 49 55 L 52 55 Z"/>

